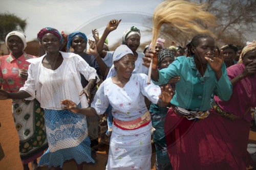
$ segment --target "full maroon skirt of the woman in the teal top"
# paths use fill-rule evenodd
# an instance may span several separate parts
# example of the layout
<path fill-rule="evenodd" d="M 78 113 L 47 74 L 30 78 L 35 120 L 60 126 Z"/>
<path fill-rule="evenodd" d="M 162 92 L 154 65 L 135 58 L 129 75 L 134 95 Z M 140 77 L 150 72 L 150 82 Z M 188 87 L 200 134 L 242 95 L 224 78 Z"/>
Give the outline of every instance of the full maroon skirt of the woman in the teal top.
<path fill-rule="evenodd" d="M 246 169 L 252 163 L 246 151 L 249 125 L 243 119 L 238 120 L 241 126 L 232 121 L 237 120 L 223 118 L 211 110 L 208 117 L 196 122 L 177 115 L 170 108 L 165 118 L 164 131 L 173 169 Z M 246 142 L 242 141 L 244 139 L 239 135 L 240 132 L 243 132 L 242 138 L 247 137 Z M 246 147 L 242 147 L 241 143 Z"/>

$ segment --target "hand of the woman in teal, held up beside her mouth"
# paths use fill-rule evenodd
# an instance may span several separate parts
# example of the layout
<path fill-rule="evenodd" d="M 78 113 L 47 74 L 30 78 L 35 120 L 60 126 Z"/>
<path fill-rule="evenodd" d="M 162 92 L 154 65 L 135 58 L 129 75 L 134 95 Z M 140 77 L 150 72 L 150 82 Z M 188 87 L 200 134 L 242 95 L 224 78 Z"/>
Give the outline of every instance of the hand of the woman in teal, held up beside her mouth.
<path fill-rule="evenodd" d="M 226 58 L 226 55 L 223 54 L 223 50 L 221 50 L 220 54 L 217 49 L 215 49 L 215 56 L 208 55 L 205 57 L 205 60 L 209 63 L 210 67 L 215 71 L 218 72 L 221 70 L 222 64 Z"/>

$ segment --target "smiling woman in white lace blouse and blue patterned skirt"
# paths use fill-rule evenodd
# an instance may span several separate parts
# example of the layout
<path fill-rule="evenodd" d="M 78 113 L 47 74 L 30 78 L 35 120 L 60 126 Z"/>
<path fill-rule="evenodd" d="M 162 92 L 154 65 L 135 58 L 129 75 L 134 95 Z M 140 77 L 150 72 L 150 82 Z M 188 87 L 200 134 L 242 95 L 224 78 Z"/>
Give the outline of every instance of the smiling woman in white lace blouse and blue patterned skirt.
<path fill-rule="evenodd" d="M 88 107 L 83 93 L 90 95 L 90 89 L 99 80 L 96 70 L 79 55 L 59 51 L 63 39 L 57 30 L 41 29 L 37 39 L 46 54 L 28 60 L 31 64 L 24 87 L 15 93 L 0 90 L 0 100 L 36 98 L 44 108 L 49 149 L 41 156 L 39 166 L 61 169 L 65 161 L 74 159 L 78 169 L 82 169 L 82 162 L 94 163 L 86 116 L 62 110 L 60 102 L 70 99 L 80 107 Z M 84 89 L 80 73 L 89 81 Z"/>

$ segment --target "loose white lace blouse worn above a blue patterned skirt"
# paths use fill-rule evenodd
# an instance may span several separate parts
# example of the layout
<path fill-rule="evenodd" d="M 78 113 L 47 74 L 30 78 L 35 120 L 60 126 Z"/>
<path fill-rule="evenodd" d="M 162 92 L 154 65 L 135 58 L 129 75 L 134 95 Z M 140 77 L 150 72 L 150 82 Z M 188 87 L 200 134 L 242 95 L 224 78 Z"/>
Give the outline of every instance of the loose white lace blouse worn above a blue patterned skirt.
<path fill-rule="evenodd" d="M 63 57 L 63 62 L 56 70 L 51 70 L 42 65 L 42 59 L 27 60 L 30 62 L 28 70 L 28 80 L 24 87 L 20 90 L 27 91 L 31 98 L 36 98 L 42 108 L 61 110 L 63 105 L 62 100 L 69 99 L 76 104 L 81 102 L 82 107 L 88 107 L 86 95 L 79 96 L 82 91 L 80 82 L 80 73 L 86 80 L 99 78 L 96 70 L 90 67 L 79 55 L 73 53 L 60 52 Z"/>

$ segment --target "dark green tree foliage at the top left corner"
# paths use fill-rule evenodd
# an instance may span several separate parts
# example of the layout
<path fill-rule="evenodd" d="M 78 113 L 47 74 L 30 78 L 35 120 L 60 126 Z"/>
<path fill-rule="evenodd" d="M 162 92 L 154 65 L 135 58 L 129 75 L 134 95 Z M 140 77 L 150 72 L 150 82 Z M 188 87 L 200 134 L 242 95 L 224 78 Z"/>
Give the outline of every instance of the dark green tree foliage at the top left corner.
<path fill-rule="evenodd" d="M 5 41 L 7 34 L 11 31 L 24 32 L 27 26 L 26 19 L 21 19 L 14 14 L 0 14 L 0 41 Z"/>

